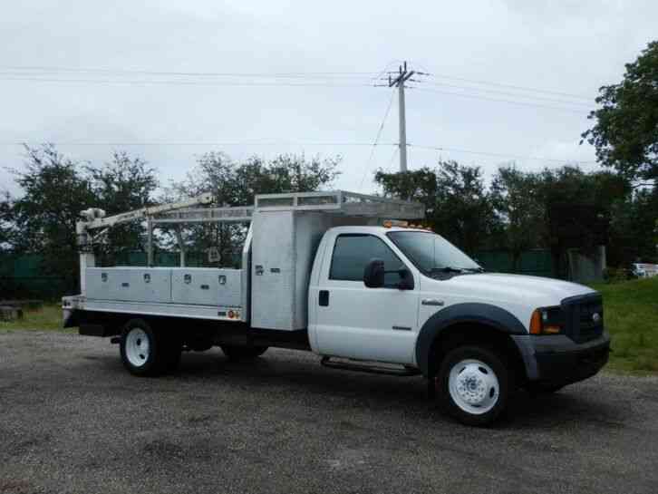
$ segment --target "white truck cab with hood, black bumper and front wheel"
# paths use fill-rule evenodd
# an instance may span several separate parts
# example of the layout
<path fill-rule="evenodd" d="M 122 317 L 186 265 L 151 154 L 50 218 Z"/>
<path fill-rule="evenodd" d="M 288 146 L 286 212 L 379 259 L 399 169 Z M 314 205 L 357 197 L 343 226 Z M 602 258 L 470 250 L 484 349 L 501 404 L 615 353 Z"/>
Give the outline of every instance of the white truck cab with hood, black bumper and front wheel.
<path fill-rule="evenodd" d="M 467 423 L 492 420 L 519 385 L 555 392 L 585 379 L 609 352 L 594 290 L 486 273 L 417 228 L 328 230 L 308 306 L 315 353 L 416 368 Z"/>

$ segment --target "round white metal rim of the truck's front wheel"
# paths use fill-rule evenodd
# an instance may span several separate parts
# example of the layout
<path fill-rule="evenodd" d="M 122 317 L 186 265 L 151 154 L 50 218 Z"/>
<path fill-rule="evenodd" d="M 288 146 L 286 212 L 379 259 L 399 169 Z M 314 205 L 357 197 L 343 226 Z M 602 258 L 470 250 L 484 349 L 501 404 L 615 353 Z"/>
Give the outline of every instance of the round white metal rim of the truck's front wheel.
<path fill-rule="evenodd" d="M 464 412 L 474 415 L 489 412 L 500 396 L 498 376 L 488 364 L 476 359 L 454 364 L 448 386 L 452 401 Z"/>

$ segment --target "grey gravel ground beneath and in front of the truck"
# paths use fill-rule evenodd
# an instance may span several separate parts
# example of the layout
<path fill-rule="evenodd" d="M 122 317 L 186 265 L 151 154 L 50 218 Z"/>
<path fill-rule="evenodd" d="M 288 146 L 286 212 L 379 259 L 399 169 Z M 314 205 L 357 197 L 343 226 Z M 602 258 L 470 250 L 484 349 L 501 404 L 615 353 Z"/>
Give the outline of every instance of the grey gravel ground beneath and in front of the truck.
<path fill-rule="evenodd" d="M 107 340 L 4 333 L 0 493 L 658 491 L 658 378 L 519 394 L 489 430 L 424 392 L 278 349 L 140 379 Z"/>

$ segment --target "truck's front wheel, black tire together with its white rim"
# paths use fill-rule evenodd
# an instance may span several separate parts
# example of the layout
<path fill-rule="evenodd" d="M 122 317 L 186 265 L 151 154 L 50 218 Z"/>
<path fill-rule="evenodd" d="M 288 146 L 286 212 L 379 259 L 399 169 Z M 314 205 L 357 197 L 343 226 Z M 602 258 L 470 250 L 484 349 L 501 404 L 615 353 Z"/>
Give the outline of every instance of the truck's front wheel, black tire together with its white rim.
<path fill-rule="evenodd" d="M 508 406 L 512 376 L 492 349 L 458 346 L 445 355 L 435 378 L 441 408 L 463 424 L 487 426 Z"/>

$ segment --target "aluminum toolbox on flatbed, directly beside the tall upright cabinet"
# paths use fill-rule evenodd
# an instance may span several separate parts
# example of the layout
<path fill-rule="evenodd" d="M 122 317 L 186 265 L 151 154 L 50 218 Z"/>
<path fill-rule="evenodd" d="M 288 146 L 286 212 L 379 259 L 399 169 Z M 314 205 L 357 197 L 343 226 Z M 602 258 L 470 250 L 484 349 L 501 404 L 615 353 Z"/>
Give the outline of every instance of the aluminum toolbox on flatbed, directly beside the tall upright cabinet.
<path fill-rule="evenodd" d="M 171 299 L 174 304 L 239 307 L 242 304 L 242 270 L 173 267 Z"/>

